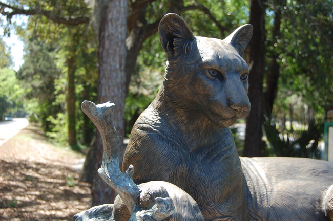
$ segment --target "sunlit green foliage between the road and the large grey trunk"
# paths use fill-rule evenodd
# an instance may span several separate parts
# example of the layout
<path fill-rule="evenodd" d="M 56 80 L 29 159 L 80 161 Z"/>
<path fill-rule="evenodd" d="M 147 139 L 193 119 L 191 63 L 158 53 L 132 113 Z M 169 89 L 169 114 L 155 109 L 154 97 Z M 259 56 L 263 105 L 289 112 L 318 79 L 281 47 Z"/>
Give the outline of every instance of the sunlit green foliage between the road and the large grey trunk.
<path fill-rule="evenodd" d="M 82 100 L 94 100 L 97 85 L 97 44 L 89 24 L 75 26 L 59 22 L 59 18 L 76 19 L 90 15 L 90 8 L 83 0 L 71 1 L 13 1 L 19 8 L 39 8 L 55 15 L 55 19 L 41 14 L 28 18 L 26 27 L 14 26 L 26 45 L 25 63 L 18 76 L 25 82 L 26 108 L 31 120 L 42 122 L 44 130 L 53 141 L 64 144 L 68 140 L 68 122 L 77 122 L 81 129 L 84 115 L 77 108 Z M 52 21 L 51 21 L 52 20 Z M 74 57 L 75 95 L 77 114 L 67 115 L 69 85 L 68 60 Z M 69 104 L 73 105 L 73 104 Z M 94 127 L 89 121 L 78 130 L 82 142 L 92 138 Z M 72 127 L 71 127 L 72 128 Z M 85 131 L 85 135 L 84 132 Z"/>

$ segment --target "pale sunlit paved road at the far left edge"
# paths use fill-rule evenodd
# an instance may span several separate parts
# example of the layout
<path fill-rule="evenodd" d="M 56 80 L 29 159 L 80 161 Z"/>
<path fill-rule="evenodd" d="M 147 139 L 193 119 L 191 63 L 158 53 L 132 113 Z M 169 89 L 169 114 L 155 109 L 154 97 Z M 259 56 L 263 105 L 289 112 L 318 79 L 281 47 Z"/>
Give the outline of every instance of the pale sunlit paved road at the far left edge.
<path fill-rule="evenodd" d="M 26 118 L 13 118 L 12 121 L 0 121 L 0 146 L 28 126 Z"/>

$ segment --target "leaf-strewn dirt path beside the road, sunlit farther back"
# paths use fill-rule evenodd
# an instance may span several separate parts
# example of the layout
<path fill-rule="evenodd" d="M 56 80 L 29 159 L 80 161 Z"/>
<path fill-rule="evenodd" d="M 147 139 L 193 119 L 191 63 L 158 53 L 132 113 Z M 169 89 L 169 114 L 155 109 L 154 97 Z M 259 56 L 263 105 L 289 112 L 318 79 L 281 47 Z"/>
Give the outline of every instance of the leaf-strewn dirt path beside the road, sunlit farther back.
<path fill-rule="evenodd" d="M 0 220 L 72 220 L 90 208 L 90 186 L 72 167 L 82 157 L 31 125 L 0 146 Z"/>

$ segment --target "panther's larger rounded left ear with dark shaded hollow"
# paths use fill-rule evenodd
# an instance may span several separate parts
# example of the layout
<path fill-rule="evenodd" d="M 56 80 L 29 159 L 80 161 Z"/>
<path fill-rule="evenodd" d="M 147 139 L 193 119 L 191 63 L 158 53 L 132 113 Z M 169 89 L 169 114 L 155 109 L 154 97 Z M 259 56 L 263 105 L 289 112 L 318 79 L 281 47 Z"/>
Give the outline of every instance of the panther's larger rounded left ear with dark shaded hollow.
<path fill-rule="evenodd" d="M 184 43 L 195 39 L 189 25 L 177 14 L 166 14 L 158 26 L 159 38 L 161 45 L 168 55 L 181 56 L 187 53 Z"/>

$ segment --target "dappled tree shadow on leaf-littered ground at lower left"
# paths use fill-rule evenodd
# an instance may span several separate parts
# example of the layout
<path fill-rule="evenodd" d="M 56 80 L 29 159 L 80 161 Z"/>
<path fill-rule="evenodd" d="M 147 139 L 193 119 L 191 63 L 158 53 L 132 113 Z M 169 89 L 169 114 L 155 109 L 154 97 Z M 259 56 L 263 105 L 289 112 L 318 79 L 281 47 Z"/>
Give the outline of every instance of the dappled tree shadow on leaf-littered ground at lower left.
<path fill-rule="evenodd" d="M 91 201 L 77 179 L 65 166 L 0 160 L 0 220 L 72 220 Z"/>

